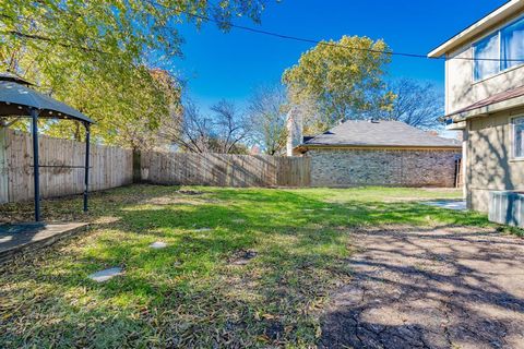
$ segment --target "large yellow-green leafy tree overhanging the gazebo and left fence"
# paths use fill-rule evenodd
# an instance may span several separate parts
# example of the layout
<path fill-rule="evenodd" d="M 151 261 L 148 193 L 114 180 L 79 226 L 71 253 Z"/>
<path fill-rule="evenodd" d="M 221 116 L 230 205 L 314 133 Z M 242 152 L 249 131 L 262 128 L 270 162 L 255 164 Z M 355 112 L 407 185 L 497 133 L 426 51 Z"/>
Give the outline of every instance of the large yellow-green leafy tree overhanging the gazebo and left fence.
<path fill-rule="evenodd" d="M 104 143 L 151 147 L 180 108 L 181 86 L 169 71 L 181 55 L 177 25 L 209 16 L 227 29 L 234 16 L 259 21 L 263 8 L 263 0 L 0 0 L 0 70 L 93 118 Z M 82 136 L 61 123 L 43 130 Z"/>

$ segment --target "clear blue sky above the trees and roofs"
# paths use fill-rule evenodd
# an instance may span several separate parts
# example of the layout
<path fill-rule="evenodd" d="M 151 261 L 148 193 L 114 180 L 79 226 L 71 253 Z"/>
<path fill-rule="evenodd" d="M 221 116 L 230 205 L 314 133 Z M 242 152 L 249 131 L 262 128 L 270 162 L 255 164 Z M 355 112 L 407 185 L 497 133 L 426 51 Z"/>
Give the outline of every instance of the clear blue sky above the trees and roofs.
<path fill-rule="evenodd" d="M 394 51 L 428 53 L 442 41 L 503 4 L 503 0 L 283 0 L 270 2 L 257 25 L 235 23 L 311 39 L 343 35 L 383 38 Z M 188 81 L 188 95 L 202 106 L 222 98 L 243 105 L 259 85 L 278 83 L 283 71 L 313 45 L 233 28 L 223 33 L 212 23 L 199 31 L 180 25 L 184 57 L 174 69 Z M 394 58 L 390 77 L 430 81 L 440 88 L 444 64 Z"/>

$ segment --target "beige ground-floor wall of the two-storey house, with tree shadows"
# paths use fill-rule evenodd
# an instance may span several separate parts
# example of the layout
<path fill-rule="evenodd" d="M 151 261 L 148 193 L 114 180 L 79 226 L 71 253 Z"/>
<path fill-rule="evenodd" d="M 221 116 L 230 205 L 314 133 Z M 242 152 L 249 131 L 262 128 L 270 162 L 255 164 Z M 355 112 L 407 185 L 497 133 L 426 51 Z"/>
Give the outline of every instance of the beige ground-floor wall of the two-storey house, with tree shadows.
<path fill-rule="evenodd" d="M 511 118 L 524 109 L 500 112 L 468 122 L 467 200 L 472 208 L 488 209 L 489 191 L 524 191 L 524 161 L 512 158 Z"/>

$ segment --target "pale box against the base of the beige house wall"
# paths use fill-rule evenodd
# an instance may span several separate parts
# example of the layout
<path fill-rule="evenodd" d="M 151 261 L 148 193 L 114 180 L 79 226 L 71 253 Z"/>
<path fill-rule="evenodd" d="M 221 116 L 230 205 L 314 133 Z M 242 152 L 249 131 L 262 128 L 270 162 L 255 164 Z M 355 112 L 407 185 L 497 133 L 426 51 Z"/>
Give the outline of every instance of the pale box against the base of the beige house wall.
<path fill-rule="evenodd" d="M 524 193 L 512 191 L 490 192 L 489 220 L 524 228 Z"/>

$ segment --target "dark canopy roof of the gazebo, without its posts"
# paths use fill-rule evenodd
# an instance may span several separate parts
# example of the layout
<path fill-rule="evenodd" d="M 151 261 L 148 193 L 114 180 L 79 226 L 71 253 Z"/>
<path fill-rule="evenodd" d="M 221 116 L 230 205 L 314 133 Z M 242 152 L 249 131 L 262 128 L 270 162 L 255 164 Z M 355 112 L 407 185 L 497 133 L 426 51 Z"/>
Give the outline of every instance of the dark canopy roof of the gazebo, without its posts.
<path fill-rule="evenodd" d="M 74 119 L 94 123 L 76 109 L 26 85 L 31 84 L 15 75 L 0 74 L 0 116 L 28 117 L 31 109 L 37 109 L 39 119 Z"/>

